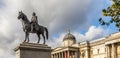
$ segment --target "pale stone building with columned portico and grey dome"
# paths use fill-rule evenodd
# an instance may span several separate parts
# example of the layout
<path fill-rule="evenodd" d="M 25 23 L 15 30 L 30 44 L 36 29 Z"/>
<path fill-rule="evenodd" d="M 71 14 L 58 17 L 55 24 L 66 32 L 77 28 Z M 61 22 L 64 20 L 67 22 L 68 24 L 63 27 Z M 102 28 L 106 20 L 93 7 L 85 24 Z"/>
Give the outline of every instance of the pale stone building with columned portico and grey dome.
<path fill-rule="evenodd" d="M 52 50 L 52 58 L 120 58 L 120 32 L 93 41 L 76 43 L 67 33 L 60 47 Z"/>

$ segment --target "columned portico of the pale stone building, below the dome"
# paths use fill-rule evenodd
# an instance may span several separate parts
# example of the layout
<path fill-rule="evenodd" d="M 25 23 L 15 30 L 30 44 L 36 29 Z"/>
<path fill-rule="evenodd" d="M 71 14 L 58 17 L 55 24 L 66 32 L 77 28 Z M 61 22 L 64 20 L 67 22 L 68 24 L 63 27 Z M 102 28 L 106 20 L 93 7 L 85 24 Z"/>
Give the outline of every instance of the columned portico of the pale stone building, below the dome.
<path fill-rule="evenodd" d="M 66 47 L 52 52 L 52 58 L 78 58 L 78 48 Z"/>

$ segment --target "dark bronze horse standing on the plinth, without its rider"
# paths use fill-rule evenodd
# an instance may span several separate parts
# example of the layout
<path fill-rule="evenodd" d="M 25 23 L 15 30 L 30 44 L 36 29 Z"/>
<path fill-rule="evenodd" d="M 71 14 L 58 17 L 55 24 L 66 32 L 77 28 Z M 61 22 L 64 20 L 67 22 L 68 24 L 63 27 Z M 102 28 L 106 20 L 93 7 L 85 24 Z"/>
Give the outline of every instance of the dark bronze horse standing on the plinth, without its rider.
<path fill-rule="evenodd" d="M 22 21 L 22 26 L 23 26 L 23 31 L 25 32 L 25 40 L 24 42 L 29 43 L 29 33 L 36 33 L 38 36 L 38 42 L 40 42 L 40 35 L 42 35 L 44 42 L 43 44 L 45 44 L 45 38 L 48 39 L 48 29 L 46 27 L 40 26 L 37 24 L 38 30 L 36 30 L 35 32 L 31 32 L 31 23 L 28 20 L 27 16 L 20 11 L 18 14 L 18 19 L 21 19 Z M 44 35 L 44 33 L 46 33 L 46 36 Z"/>

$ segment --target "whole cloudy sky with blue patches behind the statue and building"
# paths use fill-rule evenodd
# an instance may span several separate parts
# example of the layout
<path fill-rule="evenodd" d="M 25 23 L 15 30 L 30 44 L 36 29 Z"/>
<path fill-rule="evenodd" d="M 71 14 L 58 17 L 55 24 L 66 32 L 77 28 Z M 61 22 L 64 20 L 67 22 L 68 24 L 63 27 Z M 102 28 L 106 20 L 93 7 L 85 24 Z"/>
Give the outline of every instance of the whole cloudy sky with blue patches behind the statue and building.
<path fill-rule="evenodd" d="M 54 48 L 61 45 L 68 28 L 77 42 L 117 32 L 114 26 L 103 27 L 98 22 L 103 17 L 102 9 L 111 3 L 110 0 L 0 0 L 0 58 L 15 58 L 13 49 L 24 40 L 22 24 L 17 19 L 21 10 L 29 20 L 32 12 L 36 12 L 39 24 L 49 30 L 47 44 Z M 30 40 L 35 43 L 37 36 L 31 34 Z"/>

